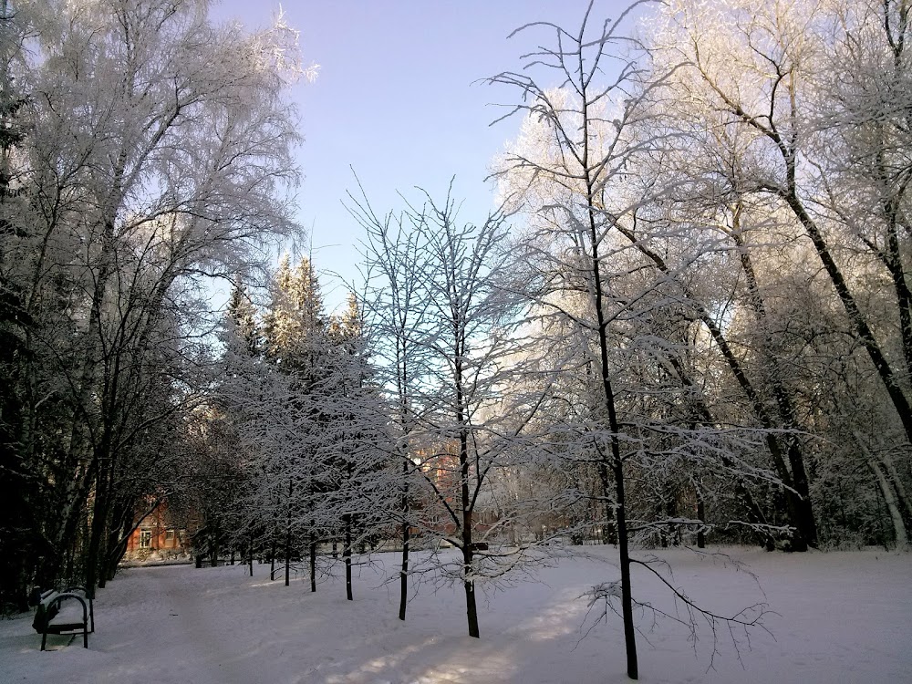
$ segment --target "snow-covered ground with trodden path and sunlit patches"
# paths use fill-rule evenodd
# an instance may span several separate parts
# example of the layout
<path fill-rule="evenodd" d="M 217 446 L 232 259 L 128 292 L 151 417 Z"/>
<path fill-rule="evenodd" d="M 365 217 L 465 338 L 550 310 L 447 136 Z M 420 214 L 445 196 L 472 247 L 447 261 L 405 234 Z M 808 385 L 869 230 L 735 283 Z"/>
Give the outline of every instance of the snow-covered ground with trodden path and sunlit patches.
<path fill-rule="evenodd" d="M 912 555 L 728 552 L 750 565 L 759 586 L 748 573 L 684 550 L 661 555 L 676 585 L 717 611 L 765 601 L 775 611 L 766 619 L 771 634 L 752 633 L 750 647 L 739 634 L 739 660 L 720 631 L 710 668 L 707 628 L 695 656 L 687 629 L 640 616 L 641 681 L 912 681 Z M 604 560 L 613 550 L 594 553 L 544 568 L 537 583 L 485 596 L 481 639 L 466 636 L 461 588 L 420 586 L 399 622 L 397 587 L 383 584 L 392 555 L 361 568 L 354 602 L 338 578 L 311 594 L 303 577 L 288 587 L 270 582 L 265 565 L 254 565 L 254 577 L 242 566 L 131 568 L 99 594 L 88 650 L 81 639 L 49 637 L 54 650 L 41 653 L 30 616 L 0 621 L 0 682 L 624 682 L 619 618 L 610 615 L 582 638 L 594 616 L 586 617 L 579 596 L 617 577 Z M 634 579 L 638 598 L 672 607 L 643 571 Z"/>

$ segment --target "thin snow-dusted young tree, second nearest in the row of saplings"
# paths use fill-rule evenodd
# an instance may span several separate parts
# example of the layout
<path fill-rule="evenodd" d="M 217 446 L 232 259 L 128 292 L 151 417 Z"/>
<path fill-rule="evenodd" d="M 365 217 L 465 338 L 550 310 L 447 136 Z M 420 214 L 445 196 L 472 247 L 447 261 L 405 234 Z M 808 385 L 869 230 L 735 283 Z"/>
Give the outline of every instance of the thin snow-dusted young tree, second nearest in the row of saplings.
<path fill-rule="evenodd" d="M 507 227 L 503 214 L 490 215 L 480 226 L 461 225 L 451 197 L 442 206 L 428 198 L 412 221 L 426 245 L 421 277 L 429 303 L 429 327 L 419 344 L 430 357 L 430 393 L 426 389 L 423 397 L 430 424 L 421 430 L 430 443 L 420 469 L 451 471 L 451 489 L 434 478 L 427 482 L 434 506 L 445 512 L 444 529 L 453 530 L 447 538 L 461 551 L 469 636 L 478 637 L 475 581 L 494 557 L 480 553 L 476 543 L 476 506 L 484 500 L 487 478 L 509 453 L 511 439 L 534 418 L 536 406 L 513 404 L 513 397 L 503 395 L 521 368 L 519 340 L 509 330 L 516 301 L 496 285 L 509 268 L 501 248 Z M 447 461 L 453 455 L 451 465 Z"/>

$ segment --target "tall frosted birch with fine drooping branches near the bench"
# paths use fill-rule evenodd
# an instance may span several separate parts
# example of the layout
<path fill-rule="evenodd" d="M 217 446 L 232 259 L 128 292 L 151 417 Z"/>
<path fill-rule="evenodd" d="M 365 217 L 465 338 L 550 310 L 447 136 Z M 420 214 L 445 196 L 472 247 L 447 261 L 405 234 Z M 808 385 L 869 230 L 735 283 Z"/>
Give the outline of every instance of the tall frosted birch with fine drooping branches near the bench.
<path fill-rule="evenodd" d="M 302 69 L 282 22 L 257 34 L 214 26 L 204 2 L 16 5 L 34 36 L 14 72 L 31 94 L 19 110 L 27 202 L 4 251 L 22 257 L 16 286 L 38 323 L 17 371 L 17 458 L 55 510 L 40 520 L 38 580 L 57 577 L 90 517 L 93 588 L 130 450 L 190 396 L 158 355 L 203 358 L 183 337 L 206 312 L 202 283 L 247 270 L 264 240 L 295 230 L 285 88 Z M 44 441 L 45 426 L 63 437 Z"/>

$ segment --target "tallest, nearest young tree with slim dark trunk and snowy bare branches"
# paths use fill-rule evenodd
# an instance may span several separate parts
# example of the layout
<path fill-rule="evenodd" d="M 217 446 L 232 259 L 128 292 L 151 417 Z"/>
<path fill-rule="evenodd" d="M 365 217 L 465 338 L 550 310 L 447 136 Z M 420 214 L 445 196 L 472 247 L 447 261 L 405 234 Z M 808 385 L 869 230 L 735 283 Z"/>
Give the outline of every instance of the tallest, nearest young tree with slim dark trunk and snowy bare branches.
<path fill-rule="evenodd" d="M 627 674 L 637 679 L 634 608 L 642 604 L 633 597 L 633 566 L 658 576 L 695 611 L 689 615 L 713 625 L 728 620 L 751 627 L 763 610 L 754 606 L 730 617 L 700 610 L 648 558 L 631 554 L 631 535 L 664 535 L 682 524 L 701 529 L 704 523 L 673 511 L 637 519 L 634 495 L 641 492 L 631 491 L 630 483 L 648 475 L 666 489 L 672 472 L 683 466 L 692 478 L 698 465 L 736 472 L 741 480 L 776 481 L 741 458 L 751 430 L 720 429 L 700 410 L 705 403 L 684 363 L 690 322 L 713 323 L 689 286 L 696 269 L 711 265 L 713 245 L 654 220 L 664 188 L 654 183 L 649 165 L 673 139 L 653 124 L 674 67 L 653 68 L 648 52 L 618 31 L 626 13 L 588 33 L 591 11 L 590 4 L 573 34 L 531 25 L 554 30 L 554 47 L 528 56 L 523 73 L 490 79 L 518 89 L 522 100 L 511 111 L 527 116 L 521 139 L 496 172 L 506 202 L 530 216 L 517 247 L 525 250 L 523 263 L 531 264 L 521 277 L 532 285 L 534 306 L 580 340 L 582 358 L 564 370 L 583 371 L 596 389 L 588 410 L 563 432 L 572 436 L 565 444 L 575 447 L 577 459 L 591 454 L 599 470 L 610 473 L 620 579 L 594 591 L 596 598 L 620 599 Z M 557 86 L 545 88 L 536 68 L 556 75 Z M 679 406 L 697 410 L 681 416 Z"/>

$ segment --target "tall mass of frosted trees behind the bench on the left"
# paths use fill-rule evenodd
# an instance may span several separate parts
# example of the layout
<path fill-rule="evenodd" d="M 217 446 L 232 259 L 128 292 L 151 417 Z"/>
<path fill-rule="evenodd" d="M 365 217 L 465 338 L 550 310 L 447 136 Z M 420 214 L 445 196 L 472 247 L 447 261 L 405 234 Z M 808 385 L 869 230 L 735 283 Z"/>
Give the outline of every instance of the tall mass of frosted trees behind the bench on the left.
<path fill-rule="evenodd" d="M 0 602 L 104 586 L 186 481 L 215 373 L 212 277 L 295 230 L 295 33 L 207 3 L 5 2 L 0 16 Z"/>

